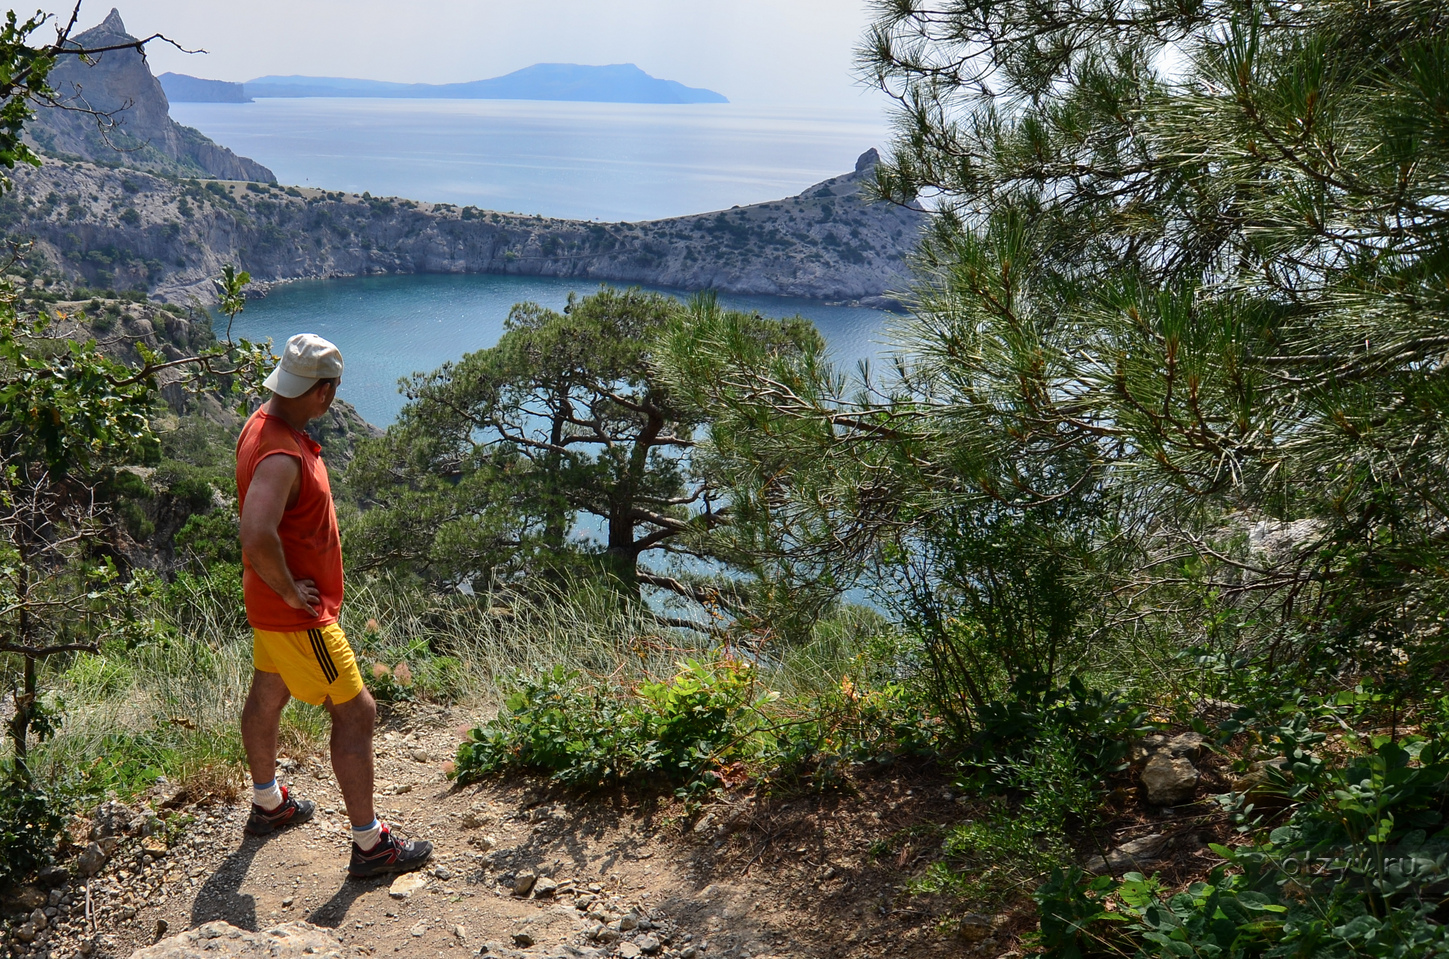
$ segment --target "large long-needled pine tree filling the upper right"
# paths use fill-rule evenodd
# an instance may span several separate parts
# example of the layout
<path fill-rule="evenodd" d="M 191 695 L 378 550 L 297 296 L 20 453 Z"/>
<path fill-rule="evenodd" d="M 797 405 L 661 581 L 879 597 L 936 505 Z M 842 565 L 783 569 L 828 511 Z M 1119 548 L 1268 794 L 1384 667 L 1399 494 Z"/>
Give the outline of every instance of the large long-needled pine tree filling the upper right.
<path fill-rule="evenodd" d="M 862 62 L 900 107 L 878 185 L 936 210 L 900 372 L 859 394 L 800 364 L 716 375 L 722 448 L 794 423 L 733 461 L 781 555 L 878 562 L 938 665 L 982 681 L 1061 617 L 1191 643 L 1230 610 L 1266 662 L 1437 658 L 1449 10 L 878 10 Z M 1062 590 L 982 645 L 952 630 L 1011 579 L 988 530 Z"/>

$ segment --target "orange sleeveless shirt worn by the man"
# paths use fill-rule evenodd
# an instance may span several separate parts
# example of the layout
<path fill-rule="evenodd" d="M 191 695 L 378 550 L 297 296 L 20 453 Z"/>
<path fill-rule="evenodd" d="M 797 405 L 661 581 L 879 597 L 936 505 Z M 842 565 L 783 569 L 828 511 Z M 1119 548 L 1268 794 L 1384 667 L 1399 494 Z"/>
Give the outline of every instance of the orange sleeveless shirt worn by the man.
<path fill-rule="evenodd" d="M 256 575 L 252 564 L 242 556 L 242 594 L 246 600 L 246 621 L 255 629 L 274 633 L 296 633 L 338 621 L 342 610 L 342 537 L 338 535 L 338 514 L 332 506 L 332 485 L 327 466 L 322 462 L 322 448 L 306 433 L 298 433 L 285 420 L 268 416 L 262 407 L 252 413 L 236 439 L 236 508 L 246 508 L 246 487 L 252 474 L 267 456 L 294 456 L 301 466 L 301 488 L 297 503 L 283 513 L 277 535 L 287 556 L 287 568 L 296 579 L 317 584 L 319 616 L 294 610 Z"/>

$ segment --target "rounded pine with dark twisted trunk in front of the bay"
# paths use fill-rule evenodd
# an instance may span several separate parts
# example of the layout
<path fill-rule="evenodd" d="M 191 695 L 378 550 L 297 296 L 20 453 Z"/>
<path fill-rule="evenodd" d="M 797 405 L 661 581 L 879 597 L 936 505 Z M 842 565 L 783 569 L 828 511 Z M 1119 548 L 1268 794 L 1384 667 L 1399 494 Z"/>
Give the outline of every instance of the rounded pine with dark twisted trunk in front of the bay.
<path fill-rule="evenodd" d="M 706 414 L 651 361 L 677 309 L 611 288 L 562 313 L 517 304 L 496 346 L 406 381 L 397 423 L 348 472 L 371 506 L 345 530 L 354 565 L 480 591 L 585 579 L 727 603 L 732 584 L 640 565 L 675 549 L 719 558 L 707 533 L 726 519 L 691 458 Z M 804 329 L 749 323 L 780 340 Z"/>

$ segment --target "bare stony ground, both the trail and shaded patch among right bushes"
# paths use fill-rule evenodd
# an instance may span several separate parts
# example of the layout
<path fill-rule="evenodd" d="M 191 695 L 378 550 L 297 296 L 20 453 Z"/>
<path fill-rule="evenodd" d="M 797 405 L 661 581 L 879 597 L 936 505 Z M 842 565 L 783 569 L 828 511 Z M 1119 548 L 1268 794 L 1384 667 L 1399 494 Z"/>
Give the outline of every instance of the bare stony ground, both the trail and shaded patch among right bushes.
<path fill-rule="evenodd" d="M 456 710 L 403 704 L 380 729 L 380 816 L 436 845 L 426 871 L 346 878 L 348 823 L 330 769 L 317 753 L 285 756 L 281 778 L 317 803 L 314 821 L 246 837 L 246 808 L 199 794 L 194 782 L 162 784 L 146 803 L 104 803 L 74 823 L 64 865 L 12 892 L 0 955 L 1029 952 L 1022 937 L 1035 917 L 1024 898 L 981 916 L 907 889 L 939 859 L 943 829 L 981 814 L 930 766 L 895 763 L 830 794 L 765 795 L 746 784 L 704 808 L 668 795 L 584 800 L 539 779 L 452 784 L 445 771 L 467 721 Z M 1084 865 L 1158 872 L 1169 884 L 1201 878 L 1217 862 L 1208 842 L 1230 842 L 1208 798 L 1227 787 L 1224 761 L 1206 752 L 1203 737 L 1148 737 L 1095 836 L 1106 855 Z"/>

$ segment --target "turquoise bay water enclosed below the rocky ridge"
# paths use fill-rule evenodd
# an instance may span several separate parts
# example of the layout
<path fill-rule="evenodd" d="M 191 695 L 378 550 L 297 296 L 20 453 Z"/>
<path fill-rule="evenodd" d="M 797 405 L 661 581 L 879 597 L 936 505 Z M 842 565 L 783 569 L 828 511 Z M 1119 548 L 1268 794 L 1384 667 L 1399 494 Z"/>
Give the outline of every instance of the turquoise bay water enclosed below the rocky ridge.
<path fill-rule="evenodd" d="M 597 288 L 577 280 L 477 274 L 304 280 L 249 301 L 236 317 L 232 336 L 271 338 L 275 349 L 293 333 L 326 336 L 342 349 L 346 365 L 339 395 L 369 423 L 387 426 L 403 409 L 398 378 L 493 346 L 514 303 L 533 301 L 561 310 L 571 291 L 587 296 Z M 891 316 L 785 297 L 722 294 L 720 303 L 771 317 L 804 316 L 814 322 L 833 358 L 846 368 L 881 352 L 880 340 Z M 219 336 L 225 333 L 225 317 L 216 320 Z"/>

